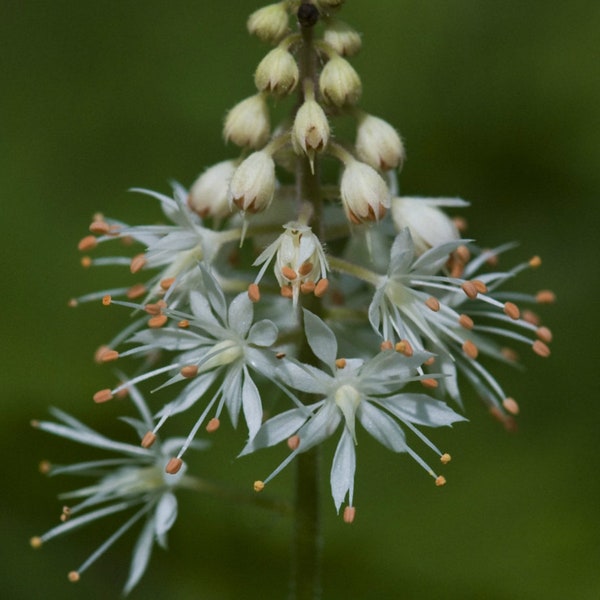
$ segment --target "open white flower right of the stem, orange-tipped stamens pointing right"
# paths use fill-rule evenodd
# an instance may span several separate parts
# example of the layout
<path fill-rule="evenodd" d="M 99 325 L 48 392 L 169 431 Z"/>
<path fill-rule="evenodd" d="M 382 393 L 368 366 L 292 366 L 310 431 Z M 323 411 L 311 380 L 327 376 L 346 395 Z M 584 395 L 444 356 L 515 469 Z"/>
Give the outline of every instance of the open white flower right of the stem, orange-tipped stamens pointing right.
<path fill-rule="evenodd" d="M 524 343 L 540 356 L 550 354 L 549 330 L 521 318 L 515 304 L 529 298 L 495 291 L 540 261 L 536 257 L 510 271 L 477 275 L 486 261 L 512 245 L 469 260 L 467 242 L 441 244 L 417 258 L 410 231 L 402 230 L 392 246 L 387 275 L 377 278 L 369 320 L 384 340 L 398 340 L 405 352 L 426 349 L 437 354 L 437 370 L 446 375 L 440 382 L 456 401 L 460 402 L 458 369 L 504 419 L 502 407 L 506 408 L 507 396 L 478 357 L 481 353 L 506 360 L 507 351 L 495 341 L 498 339 Z M 459 260 L 461 276 L 447 274 L 448 268 L 456 270 L 454 263 Z M 510 419 L 505 422 L 511 423 Z"/>

